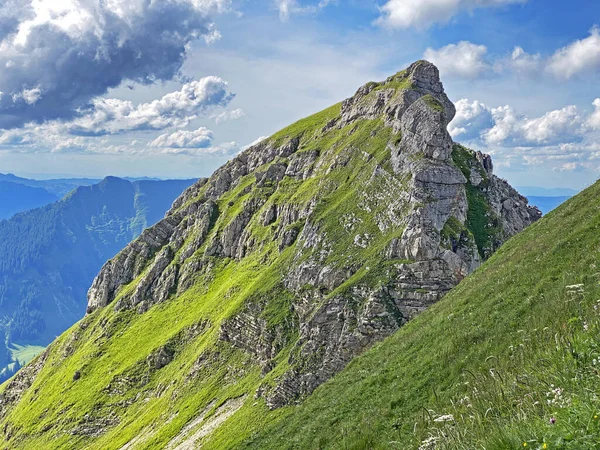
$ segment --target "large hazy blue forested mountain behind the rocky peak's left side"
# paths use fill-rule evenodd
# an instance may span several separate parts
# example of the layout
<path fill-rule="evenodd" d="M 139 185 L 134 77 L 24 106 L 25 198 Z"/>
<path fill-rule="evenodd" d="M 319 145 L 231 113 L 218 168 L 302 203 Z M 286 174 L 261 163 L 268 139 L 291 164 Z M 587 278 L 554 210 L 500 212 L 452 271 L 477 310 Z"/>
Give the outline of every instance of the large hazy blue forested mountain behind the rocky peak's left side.
<path fill-rule="evenodd" d="M 160 220 L 190 184 L 109 177 L 0 222 L 0 315 L 7 348 L 45 346 L 80 320 L 100 267 Z M 10 358 L 0 362 L 4 366 Z"/>

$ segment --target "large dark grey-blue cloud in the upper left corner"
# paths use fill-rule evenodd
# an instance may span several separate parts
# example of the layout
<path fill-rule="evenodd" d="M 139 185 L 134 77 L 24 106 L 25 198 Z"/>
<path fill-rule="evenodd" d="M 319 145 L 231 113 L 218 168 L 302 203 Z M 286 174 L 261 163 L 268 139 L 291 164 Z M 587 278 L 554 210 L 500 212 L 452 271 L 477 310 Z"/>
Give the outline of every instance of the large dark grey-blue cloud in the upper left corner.
<path fill-rule="evenodd" d="M 0 128 L 71 119 L 124 81 L 178 74 L 218 38 L 230 0 L 8 0 L 0 6 Z M 96 105 L 97 106 L 97 105 Z"/>

